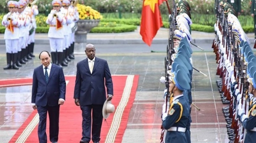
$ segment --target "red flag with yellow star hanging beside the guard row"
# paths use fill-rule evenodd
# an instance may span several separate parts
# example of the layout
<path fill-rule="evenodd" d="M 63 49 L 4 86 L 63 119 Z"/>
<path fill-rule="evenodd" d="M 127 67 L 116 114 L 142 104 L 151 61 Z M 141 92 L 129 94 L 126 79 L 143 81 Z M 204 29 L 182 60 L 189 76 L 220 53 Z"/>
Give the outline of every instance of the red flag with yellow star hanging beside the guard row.
<path fill-rule="evenodd" d="M 151 42 L 156 36 L 158 29 L 163 26 L 159 6 L 166 0 L 143 0 L 140 35 L 143 41 L 151 46 Z"/>

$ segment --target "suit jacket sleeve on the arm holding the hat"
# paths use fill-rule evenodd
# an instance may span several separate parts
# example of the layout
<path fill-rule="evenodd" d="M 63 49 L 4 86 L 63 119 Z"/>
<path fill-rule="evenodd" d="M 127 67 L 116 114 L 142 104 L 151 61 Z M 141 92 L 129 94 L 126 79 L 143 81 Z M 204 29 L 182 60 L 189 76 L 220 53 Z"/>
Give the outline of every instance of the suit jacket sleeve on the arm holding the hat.
<path fill-rule="evenodd" d="M 104 69 L 105 69 L 105 85 L 107 87 L 107 94 L 113 95 L 113 82 L 112 82 L 112 77 L 111 77 L 111 73 L 110 73 L 107 61 L 105 62 Z"/>

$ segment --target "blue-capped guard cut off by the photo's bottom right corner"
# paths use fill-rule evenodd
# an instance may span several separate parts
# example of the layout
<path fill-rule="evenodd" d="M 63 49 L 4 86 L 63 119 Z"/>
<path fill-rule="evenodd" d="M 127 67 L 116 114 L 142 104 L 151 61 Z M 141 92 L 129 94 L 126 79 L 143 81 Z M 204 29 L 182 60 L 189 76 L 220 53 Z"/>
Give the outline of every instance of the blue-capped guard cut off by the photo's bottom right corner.
<path fill-rule="evenodd" d="M 249 93 L 253 94 L 253 104 L 249 107 L 249 112 L 246 115 L 244 108 L 242 108 L 241 101 L 239 103 L 238 115 L 240 116 L 240 121 L 246 129 L 246 135 L 244 138 L 244 143 L 254 143 L 256 140 L 256 71 L 253 73 L 253 78 L 249 79 Z"/>

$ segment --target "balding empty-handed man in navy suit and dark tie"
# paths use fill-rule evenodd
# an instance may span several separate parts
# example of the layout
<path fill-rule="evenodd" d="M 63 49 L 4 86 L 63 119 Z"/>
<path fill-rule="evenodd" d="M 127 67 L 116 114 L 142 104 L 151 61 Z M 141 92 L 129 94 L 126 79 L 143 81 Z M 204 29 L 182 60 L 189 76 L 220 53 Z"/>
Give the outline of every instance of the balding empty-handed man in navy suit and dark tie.
<path fill-rule="evenodd" d="M 50 54 L 39 54 L 42 65 L 36 67 L 32 84 L 32 107 L 38 110 L 39 143 L 47 143 L 46 120 L 49 115 L 50 141 L 57 143 L 60 105 L 64 104 L 66 81 L 61 67 L 51 63 Z"/>

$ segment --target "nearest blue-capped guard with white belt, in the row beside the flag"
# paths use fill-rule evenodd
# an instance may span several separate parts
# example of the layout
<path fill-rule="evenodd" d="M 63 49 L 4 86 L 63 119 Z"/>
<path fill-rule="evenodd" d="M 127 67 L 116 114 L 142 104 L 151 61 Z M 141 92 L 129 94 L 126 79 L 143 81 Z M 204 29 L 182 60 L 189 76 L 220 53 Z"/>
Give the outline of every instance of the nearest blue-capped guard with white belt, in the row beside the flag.
<path fill-rule="evenodd" d="M 165 143 L 187 143 L 186 125 L 189 121 L 189 105 L 183 96 L 183 90 L 189 90 L 189 78 L 182 70 L 169 76 L 169 92 L 171 98 L 169 112 L 163 112 L 163 128 L 167 130 Z M 165 111 L 165 107 L 163 107 Z"/>

